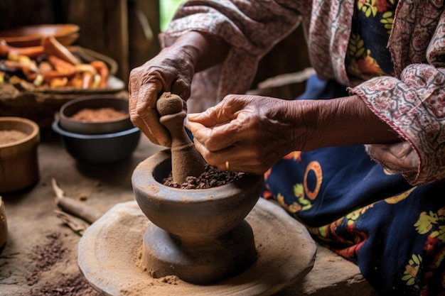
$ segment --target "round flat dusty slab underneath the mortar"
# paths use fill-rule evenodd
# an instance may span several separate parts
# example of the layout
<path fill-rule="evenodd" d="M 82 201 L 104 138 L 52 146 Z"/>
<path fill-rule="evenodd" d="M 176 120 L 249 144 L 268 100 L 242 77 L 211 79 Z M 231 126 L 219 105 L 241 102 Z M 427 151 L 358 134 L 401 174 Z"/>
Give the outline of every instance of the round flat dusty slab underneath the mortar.
<path fill-rule="evenodd" d="M 257 261 L 211 285 L 193 285 L 173 275 L 149 275 L 141 250 L 151 221 L 136 202 L 115 205 L 88 227 L 78 245 L 78 265 L 92 287 L 111 296 L 272 295 L 309 273 L 316 244 L 284 209 L 260 198 L 246 221 L 254 232 Z"/>

